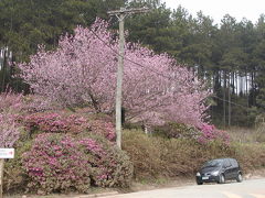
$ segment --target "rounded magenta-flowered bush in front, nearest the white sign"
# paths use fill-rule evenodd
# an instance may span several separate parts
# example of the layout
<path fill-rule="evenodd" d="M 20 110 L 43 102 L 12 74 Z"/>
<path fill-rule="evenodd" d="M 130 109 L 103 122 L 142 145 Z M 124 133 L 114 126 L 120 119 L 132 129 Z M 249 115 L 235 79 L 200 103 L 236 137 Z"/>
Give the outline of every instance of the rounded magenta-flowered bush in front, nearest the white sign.
<path fill-rule="evenodd" d="M 44 133 L 38 135 L 30 152 L 23 154 L 23 166 L 31 182 L 29 189 L 39 194 L 86 193 L 93 168 L 71 136 Z"/>

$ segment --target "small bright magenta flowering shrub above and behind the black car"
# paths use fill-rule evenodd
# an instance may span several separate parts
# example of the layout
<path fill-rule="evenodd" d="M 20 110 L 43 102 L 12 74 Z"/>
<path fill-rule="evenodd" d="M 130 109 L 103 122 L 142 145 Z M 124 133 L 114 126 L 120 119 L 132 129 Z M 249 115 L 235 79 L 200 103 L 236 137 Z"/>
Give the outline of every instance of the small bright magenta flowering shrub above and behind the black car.
<path fill-rule="evenodd" d="M 213 140 L 219 140 L 226 144 L 229 144 L 230 142 L 230 136 L 227 132 L 218 130 L 214 125 L 204 123 L 201 125 L 200 131 L 201 131 L 201 134 L 198 138 L 198 142 L 200 143 L 208 143 Z"/>

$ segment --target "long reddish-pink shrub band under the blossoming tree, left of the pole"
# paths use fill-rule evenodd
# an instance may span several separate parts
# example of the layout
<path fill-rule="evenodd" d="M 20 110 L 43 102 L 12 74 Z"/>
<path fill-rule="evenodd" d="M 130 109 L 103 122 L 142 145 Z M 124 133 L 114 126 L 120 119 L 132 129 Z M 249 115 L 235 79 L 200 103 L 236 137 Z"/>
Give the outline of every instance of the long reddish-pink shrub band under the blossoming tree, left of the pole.
<path fill-rule="evenodd" d="M 116 134 L 112 122 L 100 120 L 88 120 L 82 116 L 63 113 L 34 113 L 24 118 L 24 124 L 32 134 L 35 131 L 46 133 L 73 133 L 92 131 L 115 141 Z"/>

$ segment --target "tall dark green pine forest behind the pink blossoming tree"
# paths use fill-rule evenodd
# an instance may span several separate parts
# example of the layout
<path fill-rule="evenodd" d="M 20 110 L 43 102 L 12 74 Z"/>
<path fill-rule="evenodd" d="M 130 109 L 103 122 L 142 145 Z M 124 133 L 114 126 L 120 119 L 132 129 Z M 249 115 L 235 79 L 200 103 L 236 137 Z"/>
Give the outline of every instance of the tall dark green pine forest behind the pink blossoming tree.
<path fill-rule="evenodd" d="M 38 45 L 56 48 L 76 25 L 89 26 L 106 19 L 117 31 L 118 21 L 107 11 L 124 6 L 149 7 L 147 14 L 127 18 L 126 40 L 140 42 L 157 53 L 168 53 L 208 82 L 211 121 L 219 127 L 253 127 L 264 121 L 265 109 L 265 15 L 258 21 L 236 21 L 224 15 L 220 24 L 198 12 L 178 7 L 170 10 L 158 0 L 1 0 L 0 91 L 7 87 L 25 94 L 29 86 L 15 77 L 12 62 L 28 62 Z"/>

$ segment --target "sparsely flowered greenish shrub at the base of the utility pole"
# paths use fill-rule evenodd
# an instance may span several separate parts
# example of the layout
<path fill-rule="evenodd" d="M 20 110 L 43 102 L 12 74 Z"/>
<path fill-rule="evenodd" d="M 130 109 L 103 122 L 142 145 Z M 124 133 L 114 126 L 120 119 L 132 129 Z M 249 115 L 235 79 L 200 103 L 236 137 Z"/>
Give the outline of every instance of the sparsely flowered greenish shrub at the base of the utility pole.
<path fill-rule="evenodd" d="M 132 164 L 126 152 L 96 134 L 82 138 L 80 145 L 84 153 L 93 156 L 92 166 L 95 172 L 92 179 L 96 186 L 128 187 L 130 185 Z"/>

